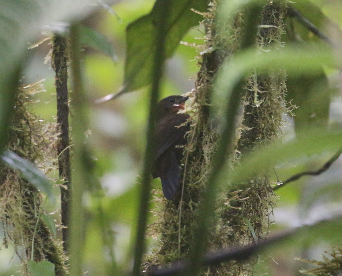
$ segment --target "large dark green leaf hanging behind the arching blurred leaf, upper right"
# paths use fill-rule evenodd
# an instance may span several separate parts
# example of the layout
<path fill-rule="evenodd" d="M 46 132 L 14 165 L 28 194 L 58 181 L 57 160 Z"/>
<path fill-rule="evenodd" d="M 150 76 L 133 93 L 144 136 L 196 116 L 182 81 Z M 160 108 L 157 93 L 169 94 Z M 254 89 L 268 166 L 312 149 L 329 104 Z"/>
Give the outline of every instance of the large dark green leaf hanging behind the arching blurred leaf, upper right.
<path fill-rule="evenodd" d="M 326 14 L 314 3 L 302 0 L 291 3 L 308 21 L 314 24 L 321 33 L 329 35 L 334 33 L 334 38 L 342 37 L 339 26 L 328 18 Z M 287 24 L 293 24 L 293 28 L 287 27 L 282 37 L 284 41 L 317 41 L 320 38 L 314 35 L 306 26 L 303 26 L 296 17 L 288 16 Z M 330 30 L 327 32 L 327 29 Z M 333 30 L 333 31 L 332 31 Z M 332 39 L 333 40 L 333 39 Z M 329 105 L 333 89 L 329 87 L 328 80 L 323 69 L 313 73 L 292 74 L 287 80 L 287 100 L 298 106 L 294 110 L 296 132 L 307 125 L 316 127 L 328 123 Z"/>

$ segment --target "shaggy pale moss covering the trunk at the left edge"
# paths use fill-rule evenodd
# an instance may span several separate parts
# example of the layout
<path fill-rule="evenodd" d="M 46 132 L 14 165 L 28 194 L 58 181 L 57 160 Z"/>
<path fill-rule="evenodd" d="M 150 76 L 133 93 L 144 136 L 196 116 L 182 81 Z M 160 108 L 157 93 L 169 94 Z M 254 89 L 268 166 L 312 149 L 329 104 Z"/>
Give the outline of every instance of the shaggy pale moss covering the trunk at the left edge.
<path fill-rule="evenodd" d="M 56 169 L 56 126 L 41 122 L 27 111 L 29 97 L 42 89 L 41 83 L 19 89 L 10 122 L 8 149 L 48 172 Z M 20 172 L 4 165 L 1 165 L 0 181 L 4 244 L 14 247 L 23 265 L 21 275 L 29 275 L 27 261 L 30 260 L 48 260 L 55 265 L 56 275 L 67 275 L 62 244 L 52 237 L 40 217 L 43 214 L 40 192 L 22 179 Z"/>

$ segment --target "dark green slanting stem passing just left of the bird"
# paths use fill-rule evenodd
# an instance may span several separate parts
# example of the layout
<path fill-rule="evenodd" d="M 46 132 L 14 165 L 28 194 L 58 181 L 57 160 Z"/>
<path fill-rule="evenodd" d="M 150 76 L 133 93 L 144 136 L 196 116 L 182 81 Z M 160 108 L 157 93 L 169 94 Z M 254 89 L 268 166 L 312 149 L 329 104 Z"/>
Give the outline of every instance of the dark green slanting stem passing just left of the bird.
<path fill-rule="evenodd" d="M 153 132 L 154 132 L 154 118 L 156 115 L 156 104 L 159 95 L 160 78 L 162 75 L 162 65 L 165 60 L 165 29 L 166 20 L 169 13 L 169 2 L 170 0 L 165 0 L 160 7 L 158 7 L 158 12 L 156 13 L 156 48 L 154 52 L 154 64 L 153 64 L 153 79 L 152 79 L 152 91 L 150 98 L 149 107 L 149 118 L 148 118 L 148 128 L 147 128 L 147 145 L 144 158 L 144 168 L 143 168 L 143 179 L 141 185 L 141 196 L 140 196 L 140 209 L 139 209 L 139 219 L 138 219 L 138 229 L 136 233 L 136 242 L 134 249 L 134 265 L 133 273 L 134 276 L 141 275 L 141 262 L 142 256 L 145 252 L 145 230 L 147 223 L 148 214 L 148 201 L 151 190 L 151 167 L 152 167 L 152 149 L 153 149 Z"/>

